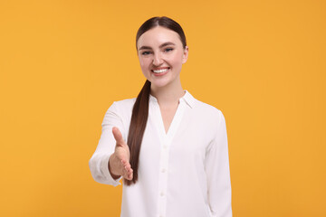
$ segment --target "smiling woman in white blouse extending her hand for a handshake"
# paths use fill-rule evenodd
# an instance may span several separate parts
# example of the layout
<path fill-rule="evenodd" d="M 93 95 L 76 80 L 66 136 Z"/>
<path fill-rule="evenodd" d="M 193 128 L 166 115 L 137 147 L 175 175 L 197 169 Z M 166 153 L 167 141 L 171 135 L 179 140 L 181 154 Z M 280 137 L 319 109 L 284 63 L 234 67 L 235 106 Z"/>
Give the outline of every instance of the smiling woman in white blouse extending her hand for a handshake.
<path fill-rule="evenodd" d="M 232 216 L 225 118 L 181 86 L 185 33 L 153 17 L 136 48 L 147 80 L 137 99 L 106 112 L 91 175 L 114 186 L 123 178 L 122 217 Z"/>

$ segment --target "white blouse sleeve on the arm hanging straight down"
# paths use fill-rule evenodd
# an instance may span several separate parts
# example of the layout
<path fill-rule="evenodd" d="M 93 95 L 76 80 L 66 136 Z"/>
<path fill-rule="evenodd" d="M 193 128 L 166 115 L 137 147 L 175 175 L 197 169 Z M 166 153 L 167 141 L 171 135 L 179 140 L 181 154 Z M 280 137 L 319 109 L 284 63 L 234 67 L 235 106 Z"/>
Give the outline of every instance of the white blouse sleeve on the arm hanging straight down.
<path fill-rule="evenodd" d="M 206 151 L 208 203 L 212 216 L 232 217 L 231 179 L 225 117 L 218 110 L 216 137 Z"/>

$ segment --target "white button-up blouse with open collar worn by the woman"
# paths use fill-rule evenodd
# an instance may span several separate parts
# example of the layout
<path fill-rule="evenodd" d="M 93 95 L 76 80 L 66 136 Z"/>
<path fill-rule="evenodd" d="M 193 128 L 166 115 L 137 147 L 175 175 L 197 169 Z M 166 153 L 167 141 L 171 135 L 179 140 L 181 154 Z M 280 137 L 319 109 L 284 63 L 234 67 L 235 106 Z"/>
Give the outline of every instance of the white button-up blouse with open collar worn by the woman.
<path fill-rule="evenodd" d="M 136 99 L 107 110 L 101 139 L 89 162 L 101 184 L 117 186 L 108 161 L 116 145 L 112 127 L 127 140 Z M 128 142 L 127 142 L 128 143 Z M 123 185 L 121 217 L 231 217 L 231 181 L 225 118 L 186 90 L 166 134 L 158 100 L 149 96 L 149 118 L 139 153 L 139 181 Z"/>

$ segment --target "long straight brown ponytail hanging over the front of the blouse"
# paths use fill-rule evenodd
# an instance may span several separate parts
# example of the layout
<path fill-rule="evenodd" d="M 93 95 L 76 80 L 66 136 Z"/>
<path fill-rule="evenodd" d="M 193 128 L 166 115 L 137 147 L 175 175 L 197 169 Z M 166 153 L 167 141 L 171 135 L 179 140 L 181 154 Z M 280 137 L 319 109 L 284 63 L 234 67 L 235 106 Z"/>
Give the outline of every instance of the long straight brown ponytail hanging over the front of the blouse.
<path fill-rule="evenodd" d="M 149 118 L 149 93 L 150 82 L 146 80 L 132 109 L 127 144 L 130 151 L 129 162 L 133 170 L 133 178 L 132 180 L 124 179 L 123 183 L 126 185 L 135 184 L 138 181 L 140 146 Z"/>

